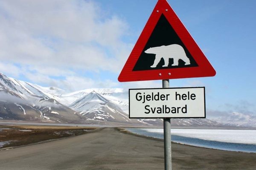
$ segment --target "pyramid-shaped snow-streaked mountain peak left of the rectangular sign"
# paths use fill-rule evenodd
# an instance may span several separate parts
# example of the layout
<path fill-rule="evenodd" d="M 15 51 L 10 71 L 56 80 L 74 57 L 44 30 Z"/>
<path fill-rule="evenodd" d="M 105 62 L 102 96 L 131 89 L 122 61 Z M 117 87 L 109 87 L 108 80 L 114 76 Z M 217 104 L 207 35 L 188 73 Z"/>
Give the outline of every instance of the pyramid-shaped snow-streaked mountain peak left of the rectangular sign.
<path fill-rule="evenodd" d="M 102 95 L 113 96 L 113 93 L 109 93 L 111 90 L 108 90 L 108 93 L 105 93 L 107 89 L 93 89 L 89 94 L 81 97 L 70 105 L 75 111 L 80 112 L 81 115 L 85 116 L 86 120 L 98 120 L 98 121 L 107 121 L 107 122 L 116 122 L 123 124 L 145 124 L 145 125 L 158 125 L 159 120 L 140 120 L 140 119 L 129 119 L 128 114 L 125 113 L 118 104 L 112 102 L 109 99 L 106 99 Z M 119 90 L 117 90 L 119 91 Z M 118 92 L 117 92 L 118 93 Z"/>

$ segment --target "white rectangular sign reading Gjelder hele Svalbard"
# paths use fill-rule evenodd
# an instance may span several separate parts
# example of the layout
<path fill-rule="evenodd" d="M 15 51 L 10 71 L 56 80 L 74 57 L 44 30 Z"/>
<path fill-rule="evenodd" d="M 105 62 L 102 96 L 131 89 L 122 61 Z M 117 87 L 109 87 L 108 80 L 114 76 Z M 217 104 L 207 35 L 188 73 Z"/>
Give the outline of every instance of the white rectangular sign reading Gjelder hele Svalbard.
<path fill-rule="evenodd" d="M 129 118 L 205 118 L 205 88 L 129 89 Z"/>

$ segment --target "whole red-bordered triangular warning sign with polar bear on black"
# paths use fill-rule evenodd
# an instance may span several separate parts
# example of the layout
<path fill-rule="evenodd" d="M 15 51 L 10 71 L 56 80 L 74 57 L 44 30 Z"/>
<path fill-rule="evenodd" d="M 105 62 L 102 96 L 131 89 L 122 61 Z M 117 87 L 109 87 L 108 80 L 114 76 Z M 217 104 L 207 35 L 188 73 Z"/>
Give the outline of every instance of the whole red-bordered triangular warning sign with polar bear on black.
<path fill-rule="evenodd" d="M 158 0 L 119 82 L 210 77 L 216 74 L 166 0 Z"/>

